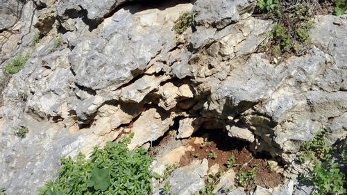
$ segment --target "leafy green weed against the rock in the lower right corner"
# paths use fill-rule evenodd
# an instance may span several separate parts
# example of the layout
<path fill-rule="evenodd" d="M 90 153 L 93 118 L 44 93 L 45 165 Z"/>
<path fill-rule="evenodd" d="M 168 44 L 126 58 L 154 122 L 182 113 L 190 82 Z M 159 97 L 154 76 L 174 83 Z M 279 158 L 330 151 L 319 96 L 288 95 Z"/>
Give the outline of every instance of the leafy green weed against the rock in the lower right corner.
<path fill-rule="evenodd" d="M 340 171 L 341 164 L 332 156 L 336 154 L 336 150 L 328 146 L 326 135 L 329 129 L 324 129 L 316 133 L 312 141 L 303 144 L 303 155 L 301 161 L 312 162 L 312 166 L 308 167 L 309 175 L 302 178 L 304 183 L 314 186 L 313 194 L 346 194 L 344 187 L 346 184 L 346 176 Z M 345 149 L 339 154 L 344 161 Z"/>

